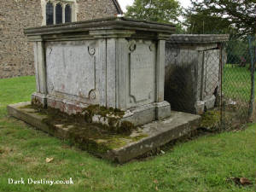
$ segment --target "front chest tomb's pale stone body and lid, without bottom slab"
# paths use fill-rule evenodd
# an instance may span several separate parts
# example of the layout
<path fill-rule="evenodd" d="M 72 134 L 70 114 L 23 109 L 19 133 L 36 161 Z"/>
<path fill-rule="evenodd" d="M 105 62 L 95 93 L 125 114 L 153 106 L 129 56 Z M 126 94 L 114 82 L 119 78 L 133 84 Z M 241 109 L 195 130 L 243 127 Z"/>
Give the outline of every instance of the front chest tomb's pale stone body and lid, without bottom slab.
<path fill-rule="evenodd" d="M 174 29 L 119 17 L 26 29 L 34 42 L 32 99 L 69 114 L 118 108 L 134 125 L 166 118 L 165 42 Z"/>

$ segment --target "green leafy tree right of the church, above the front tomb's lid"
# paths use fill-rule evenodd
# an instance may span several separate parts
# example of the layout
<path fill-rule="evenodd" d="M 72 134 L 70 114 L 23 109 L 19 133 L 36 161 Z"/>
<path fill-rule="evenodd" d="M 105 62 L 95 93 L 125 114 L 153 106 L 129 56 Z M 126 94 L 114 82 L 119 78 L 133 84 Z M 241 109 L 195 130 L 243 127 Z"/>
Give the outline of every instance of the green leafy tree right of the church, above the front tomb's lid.
<path fill-rule="evenodd" d="M 126 9 L 125 16 L 138 20 L 175 22 L 181 15 L 181 6 L 177 0 L 135 0 Z"/>

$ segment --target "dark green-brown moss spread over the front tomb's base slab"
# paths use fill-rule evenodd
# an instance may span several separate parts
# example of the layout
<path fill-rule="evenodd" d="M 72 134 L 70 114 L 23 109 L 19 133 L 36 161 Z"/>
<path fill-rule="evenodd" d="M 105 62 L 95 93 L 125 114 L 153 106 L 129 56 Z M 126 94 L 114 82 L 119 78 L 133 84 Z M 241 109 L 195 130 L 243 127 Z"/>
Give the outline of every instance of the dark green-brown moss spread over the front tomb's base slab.
<path fill-rule="evenodd" d="M 59 109 L 55 108 L 41 108 L 40 106 L 27 105 L 26 108 L 35 109 L 37 115 L 44 115 L 43 122 L 49 127 L 49 133 L 56 135 L 61 129 L 67 130 L 68 140 L 70 143 L 75 144 L 79 148 L 82 148 L 92 154 L 105 154 L 108 150 L 114 148 L 121 148 L 128 143 L 136 142 L 146 135 L 139 135 L 137 137 L 130 137 L 131 131 L 136 127 L 129 121 L 120 121 L 115 117 L 108 117 L 112 114 L 120 116 L 124 115 L 124 112 L 109 108 L 102 108 L 99 106 L 90 106 L 90 115 L 98 113 L 99 110 L 103 112 L 101 115 L 108 117 L 109 125 L 102 125 L 97 123 L 88 123 L 84 119 L 84 113 L 77 113 L 69 115 L 62 113 Z M 87 108 L 88 109 L 88 108 Z M 86 110 L 86 109 L 85 109 Z M 116 124 L 119 124 L 117 126 Z"/>

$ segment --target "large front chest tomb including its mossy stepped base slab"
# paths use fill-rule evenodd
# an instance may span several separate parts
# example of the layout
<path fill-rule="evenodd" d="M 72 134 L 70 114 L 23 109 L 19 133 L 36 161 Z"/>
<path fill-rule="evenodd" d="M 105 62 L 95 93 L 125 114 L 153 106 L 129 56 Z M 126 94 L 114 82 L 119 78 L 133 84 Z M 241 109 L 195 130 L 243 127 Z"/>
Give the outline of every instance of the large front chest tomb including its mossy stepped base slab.
<path fill-rule="evenodd" d="M 124 17 L 26 29 L 37 91 L 9 114 L 121 163 L 194 131 L 201 117 L 164 100 L 174 30 Z"/>

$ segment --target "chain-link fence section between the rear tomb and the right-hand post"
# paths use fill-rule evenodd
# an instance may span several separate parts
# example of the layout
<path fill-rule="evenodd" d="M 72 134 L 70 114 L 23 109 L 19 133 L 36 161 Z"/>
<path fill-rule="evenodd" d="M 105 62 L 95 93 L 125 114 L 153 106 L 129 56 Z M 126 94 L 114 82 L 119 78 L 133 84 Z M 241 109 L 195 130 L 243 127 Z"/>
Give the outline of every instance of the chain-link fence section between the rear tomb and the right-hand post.
<path fill-rule="evenodd" d="M 225 126 L 238 126 L 253 116 L 255 39 L 233 39 L 224 44 L 222 112 Z"/>

